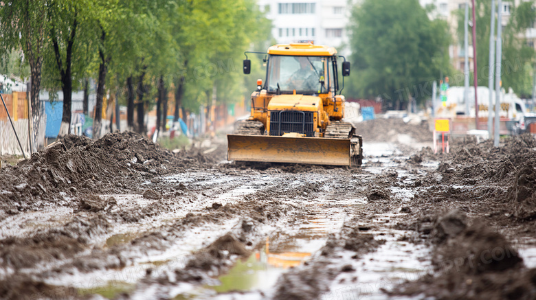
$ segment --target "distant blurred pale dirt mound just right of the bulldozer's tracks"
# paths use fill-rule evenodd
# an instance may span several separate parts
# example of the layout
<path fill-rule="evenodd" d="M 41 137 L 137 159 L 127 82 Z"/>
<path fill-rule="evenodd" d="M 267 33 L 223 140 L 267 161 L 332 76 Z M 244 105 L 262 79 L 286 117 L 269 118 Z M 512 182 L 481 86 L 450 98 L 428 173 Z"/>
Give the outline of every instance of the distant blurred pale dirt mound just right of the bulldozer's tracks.
<path fill-rule="evenodd" d="M 372 119 L 356 125 L 355 132 L 364 141 L 396 142 L 397 135 L 409 135 L 418 142 L 432 141 L 432 132 L 426 122 L 415 125 L 405 123 L 403 119 Z"/>

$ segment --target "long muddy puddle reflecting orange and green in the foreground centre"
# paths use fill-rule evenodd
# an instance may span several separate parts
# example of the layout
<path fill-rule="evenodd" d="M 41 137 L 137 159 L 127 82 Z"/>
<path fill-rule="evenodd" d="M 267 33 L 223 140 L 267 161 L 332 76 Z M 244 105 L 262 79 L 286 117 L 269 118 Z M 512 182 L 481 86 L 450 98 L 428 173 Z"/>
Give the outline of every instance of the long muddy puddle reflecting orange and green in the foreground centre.
<path fill-rule="evenodd" d="M 297 226 L 271 234 L 251 256 L 238 260 L 228 273 L 214 278 L 217 279 L 214 285 L 192 287 L 174 299 L 260 299 L 269 295 L 283 273 L 306 263 L 326 244 L 330 233 L 340 230 L 348 218 L 344 207 L 348 206 L 309 205 L 309 214 L 295 220 Z"/>

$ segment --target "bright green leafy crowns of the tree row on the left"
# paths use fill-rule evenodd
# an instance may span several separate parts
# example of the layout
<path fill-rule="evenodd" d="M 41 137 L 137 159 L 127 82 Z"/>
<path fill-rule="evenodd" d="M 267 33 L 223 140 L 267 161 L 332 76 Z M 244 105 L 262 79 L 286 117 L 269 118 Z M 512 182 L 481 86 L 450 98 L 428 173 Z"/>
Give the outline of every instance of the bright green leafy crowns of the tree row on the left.
<path fill-rule="evenodd" d="M 82 81 L 87 78 L 97 81 L 104 61 L 109 93 L 124 86 L 129 77 L 135 78 L 136 87 L 141 74 L 145 74 L 144 102 L 148 108 L 154 104 L 160 76 L 164 76 L 167 89 L 175 89 L 181 78 L 185 80 L 183 106 L 190 111 L 197 112 L 199 105 L 209 104 L 214 90 L 219 102 L 241 100 L 246 90 L 254 89 L 256 80 L 251 79 L 252 84 L 245 89 L 241 72 L 243 51 L 267 41 L 271 30 L 270 21 L 260 13 L 254 0 L 21 0 L 12 3 L 0 7 L 2 24 L 19 21 L 19 27 L 2 28 L 0 49 L 6 62 L 12 61 L 13 49 L 22 48 L 26 57 L 27 51 L 38 50 L 43 63 L 42 85 L 54 97 L 63 86 L 61 79 L 71 40 L 74 41 L 70 70 L 74 90 L 81 89 Z M 75 20 L 76 32 L 71 35 Z M 45 34 L 39 40 L 34 32 Z M 27 43 L 32 38 L 41 44 Z M 59 51 L 54 49 L 54 42 Z M 30 45 L 28 50 L 26 45 Z M 262 51 L 266 47 L 263 45 Z M 11 69 L 13 63 L 8 66 Z M 125 99 L 125 95 L 120 97 L 123 103 Z"/>

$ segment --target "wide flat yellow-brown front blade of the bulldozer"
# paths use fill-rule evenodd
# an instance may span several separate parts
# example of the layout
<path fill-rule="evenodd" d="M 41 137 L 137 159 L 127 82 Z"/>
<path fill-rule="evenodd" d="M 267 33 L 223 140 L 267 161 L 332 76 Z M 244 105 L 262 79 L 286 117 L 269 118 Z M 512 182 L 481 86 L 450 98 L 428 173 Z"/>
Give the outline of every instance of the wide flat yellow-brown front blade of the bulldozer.
<path fill-rule="evenodd" d="M 269 163 L 352 165 L 350 139 L 227 135 L 227 159 Z"/>

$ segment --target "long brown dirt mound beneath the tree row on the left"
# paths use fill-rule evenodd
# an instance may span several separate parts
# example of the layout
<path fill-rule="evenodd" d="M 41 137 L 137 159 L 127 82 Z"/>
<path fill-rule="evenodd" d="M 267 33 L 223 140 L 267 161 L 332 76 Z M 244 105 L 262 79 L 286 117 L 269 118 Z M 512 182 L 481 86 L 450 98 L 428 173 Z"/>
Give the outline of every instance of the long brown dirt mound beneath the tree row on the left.
<path fill-rule="evenodd" d="M 136 192 L 155 176 L 212 165 L 199 150 L 174 154 L 133 132 L 71 135 L 0 170 L 0 219 L 52 203 L 76 207 L 80 194 Z"/>

